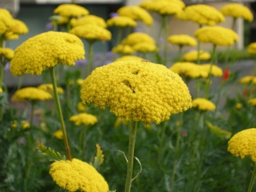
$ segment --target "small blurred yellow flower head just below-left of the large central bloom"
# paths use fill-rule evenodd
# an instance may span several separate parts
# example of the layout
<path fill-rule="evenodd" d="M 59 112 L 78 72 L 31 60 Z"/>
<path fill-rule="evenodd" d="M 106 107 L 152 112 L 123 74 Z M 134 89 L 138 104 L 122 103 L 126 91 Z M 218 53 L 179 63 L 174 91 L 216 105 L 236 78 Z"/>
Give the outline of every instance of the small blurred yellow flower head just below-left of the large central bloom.
<path fill-rule="evenodd" d="M 94 125 L 95 123 L 98 122 L 97 117 L 95 117 L 94 115 L 91 114 L 86 114 L 86 113 L 81 113 L 78 115 L 72 115 L 69 118 L 70 121 L 73 121 L 75 123 L 76 126 L 80 126 L 81 124 L 84 124 L 86 126 L 89 125 Z"/>

